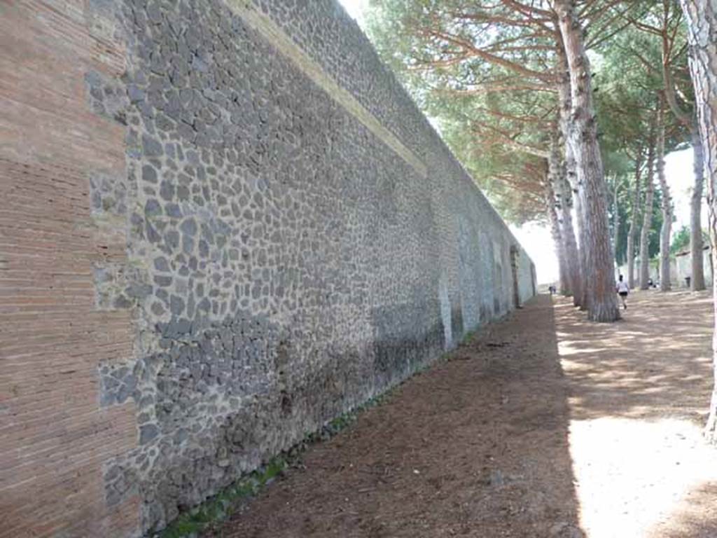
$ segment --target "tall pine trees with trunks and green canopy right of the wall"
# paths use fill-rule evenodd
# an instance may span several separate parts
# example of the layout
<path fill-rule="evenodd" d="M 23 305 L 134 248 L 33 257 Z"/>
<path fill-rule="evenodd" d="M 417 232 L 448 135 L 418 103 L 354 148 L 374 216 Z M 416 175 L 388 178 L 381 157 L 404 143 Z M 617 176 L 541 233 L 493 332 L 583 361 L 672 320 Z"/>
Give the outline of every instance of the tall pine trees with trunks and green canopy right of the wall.
<path fill-rule="evenodd" d="M 614 264 L 627 263 L 632 287 L 639 257 L 646 289 L 656 250 L 662 291 L 670 250 L 685 245 L 690 286 L 705 288 L 705 177 L 717 213 L 714 1 L 371 0 L 369 34 L 503 217 L 549 223 L 560 290 L 589 319 L 619 318 Z M 665 154 L 683 146 L 695 163 L 690 228 L 670 249 Z M 717 388 L 707 431 L 717 439 Z"/>

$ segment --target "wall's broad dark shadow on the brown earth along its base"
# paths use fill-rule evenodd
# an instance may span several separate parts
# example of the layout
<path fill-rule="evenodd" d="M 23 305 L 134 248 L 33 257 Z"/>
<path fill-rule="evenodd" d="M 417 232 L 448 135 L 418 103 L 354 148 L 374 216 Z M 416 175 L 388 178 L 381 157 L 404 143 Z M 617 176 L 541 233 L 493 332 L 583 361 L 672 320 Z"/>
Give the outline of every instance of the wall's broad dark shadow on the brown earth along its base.
<path fill-rule="evenodd" d="M 580 537 L 554 323 L 539 296 L 486 328 L 214 536 Z"/>

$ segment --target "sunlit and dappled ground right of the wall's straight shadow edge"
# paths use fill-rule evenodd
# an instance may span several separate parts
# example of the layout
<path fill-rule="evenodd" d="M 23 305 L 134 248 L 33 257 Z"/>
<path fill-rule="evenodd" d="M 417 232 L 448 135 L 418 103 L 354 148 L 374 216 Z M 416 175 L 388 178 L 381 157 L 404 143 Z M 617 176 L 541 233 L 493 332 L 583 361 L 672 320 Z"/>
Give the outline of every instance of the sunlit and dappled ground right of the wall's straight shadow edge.
<path fill-rule="evenodd" d="M 589 538 L 717 537 L 717 450 L 707 293 L 635 294 L 623 321 L 556 303 L 569 382 L 570 453 Z"/>

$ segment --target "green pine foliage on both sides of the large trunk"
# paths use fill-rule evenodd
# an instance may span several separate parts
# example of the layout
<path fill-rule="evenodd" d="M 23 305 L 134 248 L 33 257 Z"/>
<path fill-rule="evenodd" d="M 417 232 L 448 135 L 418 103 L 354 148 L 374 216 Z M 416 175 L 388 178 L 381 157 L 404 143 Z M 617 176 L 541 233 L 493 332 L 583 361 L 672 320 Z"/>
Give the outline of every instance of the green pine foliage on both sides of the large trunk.
<path fill-rule="evenodd" d="M 659 26 L 660 10 L 667 8 L 650 1 L 619 6 L 606 2 L 606 10 L 622 11 L 619 16 L 602 17 L 601 22 L 598 4 L 588 10 L 584 22 L 592 47 L 589 55 L 610 191 L 606 193 L 609 219 L 612 226 L 614 213 L 619 214 L 615 241 L 617 257 L 624 261 L 635 171 L 638 166 L 643 169 L 642 204 L 650 126 L 657 93 L 665 87 L 662 42 L 633 21 Z M 544 22 L 533 24 L 500 2 L 475 0 L 371 0 L 367 19 L 369 36 L 381 57 L 394 68 L 419 107 L 435 119 L 447 144 L 505 220 L 517 224 L 543 220 L 544 154 L 556 120 L 555 81 L 549 80 L 556 64 L 556 43 L 554 34 L 544 31 Z M 665 24 L 673 25 L 676 42 L 684 42 L 676 22 L 674 18 Z M 491 60 L 495 57 L 500 61 Z M 675 47 L 668 60 L 680 103 L 688 103 L 686 47 Z M 665 120 L 669 152 L 685 145 L 687 133 L 669 111 Z M 638 227 L 642 209 L 637 207 Z M 657 187 L 651 253 L 660 224 Z"/>

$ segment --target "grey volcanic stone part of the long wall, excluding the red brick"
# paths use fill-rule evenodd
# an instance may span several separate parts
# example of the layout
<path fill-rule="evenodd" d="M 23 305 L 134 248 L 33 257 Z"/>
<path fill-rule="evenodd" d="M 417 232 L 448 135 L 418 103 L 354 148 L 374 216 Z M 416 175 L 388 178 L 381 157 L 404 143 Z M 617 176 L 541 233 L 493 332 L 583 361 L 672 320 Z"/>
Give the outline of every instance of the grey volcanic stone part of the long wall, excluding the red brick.
<path fill-rule="evenodd" d="M 98 175 L 90 199 L 128 221 L 135 268 L 116 292 L 95 274 L 136 331 L 100 369 L 100 405 L 134 402 L 138 427 L 106 492 L 136 491 L 146 532 L 503 316 L 511 263 L 533 293 L 530 260 L 338 4 L 257 4 L 290 55 L 222 0 L 120 0 L 127 72 L 85 78 L 126 129 L 127 177 Z"/>

